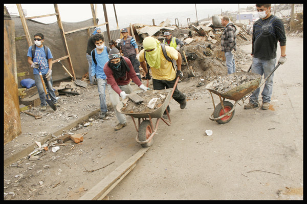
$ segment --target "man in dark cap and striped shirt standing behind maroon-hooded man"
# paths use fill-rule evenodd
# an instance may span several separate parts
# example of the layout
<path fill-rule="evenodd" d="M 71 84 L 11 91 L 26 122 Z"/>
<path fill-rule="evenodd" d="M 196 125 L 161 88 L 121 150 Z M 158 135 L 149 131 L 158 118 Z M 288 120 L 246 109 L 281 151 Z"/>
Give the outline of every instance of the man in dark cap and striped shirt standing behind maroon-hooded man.
<path fill-rule="evenodd" d="M 123 38 L 120 40 L 121 44 L 120 53 L 123 53 L 123 55 L 131 61 L 138 78 L 140 79 L 140 81 L 142 81 L 140 75 L 140 62 L 138 60 L 139 56 L 138 44 L 134 39 L 134 37 L 128 35 L 128 31 L 126 28 L 123 28 L 121 30 L 121 34 L 123 35 Z"/>

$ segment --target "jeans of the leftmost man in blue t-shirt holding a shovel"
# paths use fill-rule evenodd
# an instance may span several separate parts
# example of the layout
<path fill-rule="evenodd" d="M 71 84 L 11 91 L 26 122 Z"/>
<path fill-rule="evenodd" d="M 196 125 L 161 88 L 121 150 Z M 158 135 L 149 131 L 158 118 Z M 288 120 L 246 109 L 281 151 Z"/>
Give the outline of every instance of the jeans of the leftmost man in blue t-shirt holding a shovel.
<path fill-rule="evenodd" d="M 50 77 L 49 81 L 47 81 L 45 74 L 42 75 L 42 78 L 45 81 L 46 90 L 48 90 L 49 97 L 50 97 L 51 101 L 53 103 L 56 103 L 57 99 L 56 99 L 54 90 L 52 88 L 52 76 Z M 43 89 L 43 86 L 42 86 L 42 83 L 41 83 L 41 79 L 40 79 L 40 76 L 38 74 L 34 75 L 34 81 L 35 81 L 35 85 L 36 85 L 37 92 L 38 92 L 38 95 L 39 95 L 40 105 L 41 106 L 47 106 L 46 93 L 45 93 L 45 90 Z"/>

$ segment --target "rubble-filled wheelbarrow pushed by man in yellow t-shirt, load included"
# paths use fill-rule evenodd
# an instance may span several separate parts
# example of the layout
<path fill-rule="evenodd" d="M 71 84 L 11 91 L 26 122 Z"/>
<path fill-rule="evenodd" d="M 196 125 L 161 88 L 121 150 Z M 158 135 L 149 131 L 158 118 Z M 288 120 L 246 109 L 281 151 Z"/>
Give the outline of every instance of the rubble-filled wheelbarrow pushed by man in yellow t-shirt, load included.
<path fill-rule="evenodd" d="M 121 114 L 131 116 L 137 130 L 136 141 L 142 147 L 149 147 L 153 144 L 153 135 L 157 132 L 160 119 L 166 125 L 171 125 L 169 113 L 166 108 L 169 105 L 178 80 L 179 77 L 177 78 L 173 88 L 147 90 L 147 92 L 143 92 L 142 90 L 135 91 L 135 93 L 140 95 L 140 97 L 144 98 L 144 101 L 140 104 L 131 100 L 124 100 L 117 104 L 117 111 Z M 168 119 L 162 118 L 164 111 L 166 111 Z M 157 120 L 154 125 L 153 119 L 155 118 Z M 138 123 L 135 119 L 138 119 Z"/>

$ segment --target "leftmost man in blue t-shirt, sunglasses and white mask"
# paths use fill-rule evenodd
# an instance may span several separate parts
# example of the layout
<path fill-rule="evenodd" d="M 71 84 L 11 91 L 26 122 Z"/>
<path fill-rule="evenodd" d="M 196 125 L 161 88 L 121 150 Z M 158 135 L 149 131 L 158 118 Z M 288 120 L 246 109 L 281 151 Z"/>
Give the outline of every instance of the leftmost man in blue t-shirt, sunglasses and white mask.
<path fill-rule="evenodd" d="M 53 56 L 51 54 L 50 49 L 46 49 L 47 53 L 45 52 L 45 46 L 42 44 L 44 42 L 43 34 L 36 33 L 34 35 L 34 43 L 32 46 L 28 49 L 28 63 L 33 68 L 33 74 L 34 74 L 34 81 L 37 88 L 37 92 L 40 99 L 40 110 L 45 111 L 47 109 L 47 103 L 46 103 L 46 94 L 45 90 L 42 85 L 42 81 L 39 76 L 39 70 L 41 72 L 42 78 L 45 81 L 46 88 L 49 91 L 49 96 L 53 104 L 57 107 L 59 107 L 59 103 L 57 102 L 54 90 L 52 88 L 52 59 Z M 32 55 L 32 47 L 35 46 L 35 52 L 34 56 Z M 47 58 L 48 56 L 48 58 Z"/>

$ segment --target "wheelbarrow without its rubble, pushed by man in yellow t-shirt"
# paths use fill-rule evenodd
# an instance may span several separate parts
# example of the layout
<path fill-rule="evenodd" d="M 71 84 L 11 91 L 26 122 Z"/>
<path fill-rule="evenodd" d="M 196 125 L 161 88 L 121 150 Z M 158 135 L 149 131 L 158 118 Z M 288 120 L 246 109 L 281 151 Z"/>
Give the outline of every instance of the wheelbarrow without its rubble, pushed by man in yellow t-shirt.
<path fill-rule="evenodd" d="M 123 102 L 120 102 L 117 104 L 116 109 L 121 114 L 125 114 L 127 116 L 130 116 L 134 122 L 135 128 L 137 130 L 136 135 L 136 141 L 139 143 L 142 147 L 150 147 L 153 144 L 153 136 L 156 134 L 158 130 L 158 125 L 160 122 L 160 119 L 168 126 L 171 125 L 171 120 L 169 117 L 169 113 L 167 111 L 167 106 L 169 105 L 169 102 L 171 100 L 171 97 L 174 93 L 174 89 L 177 86 L 179 77 L 177 77 L 176 82 L 173 86 L 173 88 L 167 88 L 160 90 L 160 92 L 163 94 L 167 94 L 164 103 L 155 110 L 152 110 L 151 112 L 145 112 L 145 113 L 126 113 L 122 112 L 121 109 L 124 106 Z M 164 111 L 167 113 L 167 120 L 162 118 Z M 156 124 L 154 125 L 153 119 L 156 120 Z M 136 123 L 136 120 L 138 119 L 138 123 Z"/>

